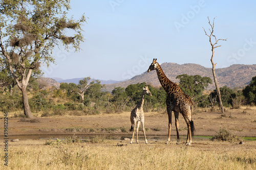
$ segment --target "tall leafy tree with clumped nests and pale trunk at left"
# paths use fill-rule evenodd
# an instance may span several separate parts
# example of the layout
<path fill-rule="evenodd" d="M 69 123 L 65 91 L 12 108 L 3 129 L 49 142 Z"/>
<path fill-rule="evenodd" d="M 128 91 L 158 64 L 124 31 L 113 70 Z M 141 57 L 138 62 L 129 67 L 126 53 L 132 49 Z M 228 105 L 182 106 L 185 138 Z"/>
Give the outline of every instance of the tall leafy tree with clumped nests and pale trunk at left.
<path fill-rule="evenodd" d="M 27 86 L 32 70 L 54 63 L 53 48 L 64 45 L 79 51 L 81 25 L 86 17 L 67 18 L 69 0 L 2 0 L 0 2 L 0 53 L 5 68 L 22 91 L 24 114 L 32 118 Z M 67 29 L 73 30 L 71 37 Z M 71 44 L 71 46 L 69 45 Z"/>

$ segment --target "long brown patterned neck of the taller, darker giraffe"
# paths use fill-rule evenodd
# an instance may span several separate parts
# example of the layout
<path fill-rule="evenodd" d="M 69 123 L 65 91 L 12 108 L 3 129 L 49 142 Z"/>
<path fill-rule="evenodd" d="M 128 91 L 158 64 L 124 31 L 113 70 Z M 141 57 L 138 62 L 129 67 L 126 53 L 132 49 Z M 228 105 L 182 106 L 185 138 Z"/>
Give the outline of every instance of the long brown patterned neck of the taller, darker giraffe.
<path fill-rule="evenodd" d="M 180 89 L 179 86 L 170 81 L 164 74 L 162 68 L 160 67 L 160 65 L 157 63 L 157 67 L 156 67 L 156 71 L 157 71 L 157 76 L 159 79 L 160 84 L 162 85 L 163 89 L 167 92 L 167 93 L 173 93 L 176 90 Z"/>

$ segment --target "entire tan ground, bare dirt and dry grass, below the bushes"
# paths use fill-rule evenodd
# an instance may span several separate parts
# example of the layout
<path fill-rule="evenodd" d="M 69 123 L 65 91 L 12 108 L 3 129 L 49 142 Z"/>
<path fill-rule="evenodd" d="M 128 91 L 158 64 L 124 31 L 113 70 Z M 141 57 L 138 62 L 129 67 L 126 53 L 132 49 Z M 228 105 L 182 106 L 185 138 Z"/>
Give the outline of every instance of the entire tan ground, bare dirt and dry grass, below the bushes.
<path fill-rule="evenodd" d="M 130 138 L 132 134 L 129 131 L 130 112 L 25 120 L 9 114 L 8 135 L 10 139 L 18 138 L 19 141 L 8 141 L 8 166 L 4 165 L 5 143 L 0 143 L 0 169 L 256 169 L 256 141 L 249 140 L 256 136 L 255 108 L 229 109 L 224 115 L 204 110 L 193 114 L 196 137 L 189 147 L 185 145 L 187 130 L 182 116 L 179 129 L 184 138 L 179 145 L 176 144 L 173 125 L 171 144 L 165 144 L 166 113 L 145 113 L 148 144 L 144 143 L 143 137 L 140 144 L 129 144 L 129 139 L 121 140 L 120 136 Z M 205 138 L 217 132 L 220 137 L 231 137 L 231 140 L 211 141 Z M 0 134 L 4 134 L 3 125 Z M 37 135 L 58 134 L 94 137 L 72 138 L 74 142 L 70 138 L 35 139 Z M 22 135 L 27 137 L 22 138 Z M 119 138 L 106 139 L 108 135 L 119 135 Z M 139 135 L 142 135 L 141 131 Z M 150 136 L 164 137 L 150 139 Z M 4 139 L 3 135 L 0 137 Z"/>

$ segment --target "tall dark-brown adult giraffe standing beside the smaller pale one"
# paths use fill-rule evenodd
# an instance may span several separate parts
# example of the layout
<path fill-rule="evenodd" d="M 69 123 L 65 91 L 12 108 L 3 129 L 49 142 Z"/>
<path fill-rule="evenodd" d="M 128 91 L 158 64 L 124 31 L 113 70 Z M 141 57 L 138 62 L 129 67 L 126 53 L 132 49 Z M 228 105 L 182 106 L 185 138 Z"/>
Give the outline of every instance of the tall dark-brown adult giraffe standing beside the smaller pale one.
<path fill-rule="evenodd" d="M 185 122 L 187 124 L 187 140 L 186 145 L 190 145 L 192 142 L 192 136 L 194 136 L 194 123 L 191 118 L 191 114 L 193 112 L 193 102 L 189 98 L 188 95 L 186 95 L 183 91 L 181 91 L 180 87 L 170 81 L 164 74 L 162 68 L 157 63 L 157 59 L 153 59 L 152 64 L 148 68 L 147 72 L 150 72 L 152 70 L 157 71 L 157 76 L 159 79 L 159 82 L 161 83 L 163 89 L 167 93 L 166 98 L 166 106 L 167 106 L 167 113 L 168 113 L 168 119 L 169 119 L 169 129 L 168 129 L 168 139 L 166 141 L 166 144 L 170 141 L 170 129 L 172 128 L 172 111 L 174 111 L 175 115 L 175 126 L 177 131 L 177 144 L 179 144 L 180 137 L 179 137 L 179 112 L 183 115 Z"/>

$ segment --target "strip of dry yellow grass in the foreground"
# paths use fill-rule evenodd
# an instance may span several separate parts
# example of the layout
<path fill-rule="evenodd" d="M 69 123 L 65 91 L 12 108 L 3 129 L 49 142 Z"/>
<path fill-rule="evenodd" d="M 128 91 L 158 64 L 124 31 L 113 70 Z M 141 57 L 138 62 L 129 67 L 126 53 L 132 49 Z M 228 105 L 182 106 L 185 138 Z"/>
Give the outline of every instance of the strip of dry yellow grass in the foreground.
<path fill-rule="evenodd" d="M 10 143 L 8 169 L 256 169 L 255 141 L 247 143 L 254 149 L 212 141 L 197 141 L 191 147 L 164 141 L 147 145 L 122 141 L 122 147 L 115 140 L 60 145 L 22 142 Z"/>

